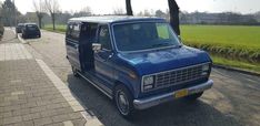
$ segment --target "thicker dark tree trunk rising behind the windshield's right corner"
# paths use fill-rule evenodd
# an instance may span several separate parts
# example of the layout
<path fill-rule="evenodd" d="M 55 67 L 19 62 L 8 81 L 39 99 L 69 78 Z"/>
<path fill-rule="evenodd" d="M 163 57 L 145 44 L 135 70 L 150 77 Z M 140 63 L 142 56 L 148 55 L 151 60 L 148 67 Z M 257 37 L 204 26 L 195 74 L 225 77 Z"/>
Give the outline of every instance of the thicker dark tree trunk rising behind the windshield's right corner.
<path fill-rule="evenodd" d="M 176 0 L 168 0 L 170 10 L 170 24 L 174 32 L 180 35 L 179 7 Z"/>

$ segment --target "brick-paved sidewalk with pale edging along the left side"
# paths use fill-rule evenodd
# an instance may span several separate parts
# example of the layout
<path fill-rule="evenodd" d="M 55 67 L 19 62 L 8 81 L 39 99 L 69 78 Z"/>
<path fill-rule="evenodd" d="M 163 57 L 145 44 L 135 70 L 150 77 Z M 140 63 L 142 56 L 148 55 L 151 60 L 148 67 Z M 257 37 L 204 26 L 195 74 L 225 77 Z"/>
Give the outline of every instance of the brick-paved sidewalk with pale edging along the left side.
<path fill-rule="evenodd" d="M 12 34 L 6 30 L 0 41 L 0 126 L 89 124 L 68 87 Z"/>

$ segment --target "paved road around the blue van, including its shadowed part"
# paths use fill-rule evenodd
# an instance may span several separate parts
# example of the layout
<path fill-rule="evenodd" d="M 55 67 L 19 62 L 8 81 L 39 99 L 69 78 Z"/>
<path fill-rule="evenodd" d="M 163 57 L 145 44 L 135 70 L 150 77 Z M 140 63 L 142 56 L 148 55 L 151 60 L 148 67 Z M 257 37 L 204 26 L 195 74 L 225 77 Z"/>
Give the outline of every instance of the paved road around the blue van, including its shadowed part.
<path fill-rule="evenodd" d="M 260 126 L 258 76 L 213 69 L 214 85 L 199 101 L 173 101 L 139 112 L 133 120 L 126 120 L 107 96 L 84 80 L 73 77 L 66 59 L 63 34 L 42 31 L 41 39 L 26 41 L 27 49 L 42 59 L 106 126 Z"/>

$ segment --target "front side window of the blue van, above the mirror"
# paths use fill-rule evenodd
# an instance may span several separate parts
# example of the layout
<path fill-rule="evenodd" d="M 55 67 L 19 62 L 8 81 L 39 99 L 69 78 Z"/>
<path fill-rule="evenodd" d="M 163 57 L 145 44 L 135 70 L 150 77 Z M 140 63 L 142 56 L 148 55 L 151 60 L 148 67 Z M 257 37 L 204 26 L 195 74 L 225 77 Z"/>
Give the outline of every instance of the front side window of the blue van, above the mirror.
<path fill-rule="evenodd" d="M 100 43 L 103 49 L 111 50 L 111 39 L 108 25 L 100 27 L 98 36 L 98 43 Z"/>

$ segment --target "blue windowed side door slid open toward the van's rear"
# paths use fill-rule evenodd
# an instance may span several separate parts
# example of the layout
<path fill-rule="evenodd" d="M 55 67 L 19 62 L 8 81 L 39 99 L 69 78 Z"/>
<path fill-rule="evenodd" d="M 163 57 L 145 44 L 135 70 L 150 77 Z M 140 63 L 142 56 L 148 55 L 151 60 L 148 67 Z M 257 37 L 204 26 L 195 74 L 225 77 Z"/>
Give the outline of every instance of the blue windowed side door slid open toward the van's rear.
<path fill-rule="evenodd" d="M 66 33 L 67 56 L 73 67 L 81 71 L 79 55 L 80 25 L 78 22 L 70 22 Z"/>

